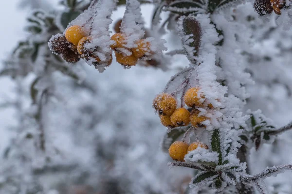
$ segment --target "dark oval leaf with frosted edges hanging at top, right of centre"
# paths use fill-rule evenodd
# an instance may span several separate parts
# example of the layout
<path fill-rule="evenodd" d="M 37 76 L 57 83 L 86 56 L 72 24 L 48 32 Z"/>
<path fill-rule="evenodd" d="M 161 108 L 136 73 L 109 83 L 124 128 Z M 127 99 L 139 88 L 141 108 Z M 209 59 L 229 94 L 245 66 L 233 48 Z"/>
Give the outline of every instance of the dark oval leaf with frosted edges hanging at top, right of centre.
<path fill-rule="evenodd" d="M 193 48 L 194 52 L 188 52 L 189 48 L 186 48 L 185 46 L 184 50 L 187 54 L 187 58 L 189 59 L 189 61 L 195 64 L 196 61 L 194 57 L 198 56 L 201 44 L 202 30 L 200 23 L 193 16 L 188 16 L 183 18 L 183 22 L 181 25 L 183 27 L 183 34 L 181 35 L 183 46 L 185 45 L 184 42 L 187 41 L 184 40 L 186 35 L 190 36 L 189 39 L 193 39 L 192 41 L 188 41 L 189 43 L 187 45 L 188 47 Z"/>

